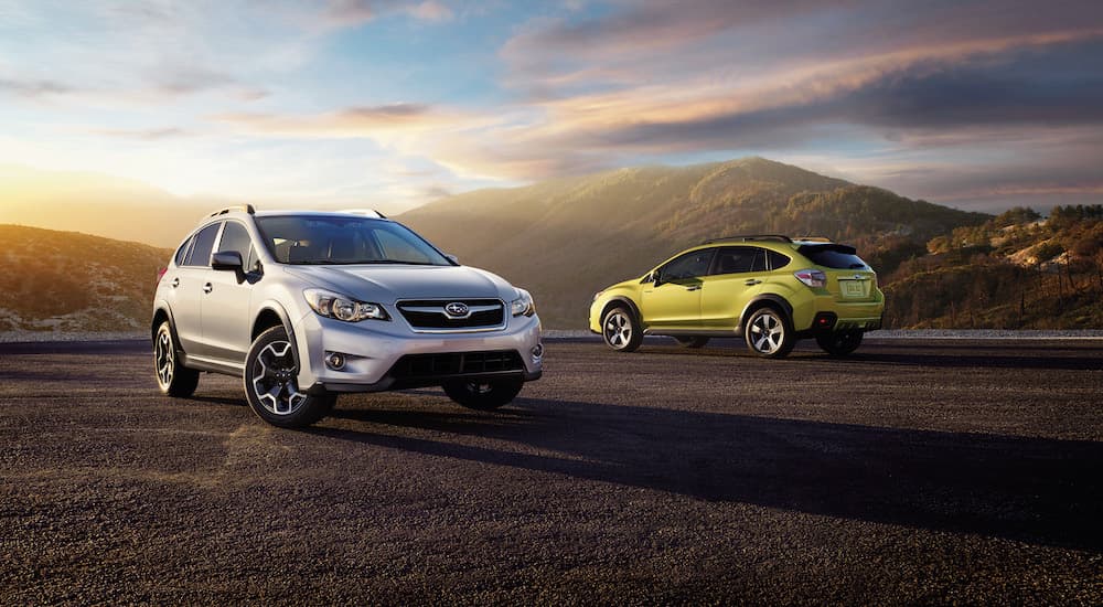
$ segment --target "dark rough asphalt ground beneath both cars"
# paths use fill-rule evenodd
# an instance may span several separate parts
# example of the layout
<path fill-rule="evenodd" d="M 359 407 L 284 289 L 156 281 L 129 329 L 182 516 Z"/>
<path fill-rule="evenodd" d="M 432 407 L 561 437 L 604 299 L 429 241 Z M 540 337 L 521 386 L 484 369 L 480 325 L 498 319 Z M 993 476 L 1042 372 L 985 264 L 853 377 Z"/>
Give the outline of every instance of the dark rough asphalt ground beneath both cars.
<path fill-rule="evenodd" d="M 0 604 L 1103 603 L 1103 343 L 548 344 L 499 413 L 0 345 Z"/>

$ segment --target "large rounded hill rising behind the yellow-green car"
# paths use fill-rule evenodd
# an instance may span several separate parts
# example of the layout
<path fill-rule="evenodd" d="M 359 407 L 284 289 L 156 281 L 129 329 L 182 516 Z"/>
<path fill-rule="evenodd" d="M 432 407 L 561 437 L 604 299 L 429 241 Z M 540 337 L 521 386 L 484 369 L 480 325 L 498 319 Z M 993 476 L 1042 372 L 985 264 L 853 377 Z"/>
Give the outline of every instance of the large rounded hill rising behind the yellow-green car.
<path fill-rule="evenodd" d="M 988 219 L 762 158 L 470 192 L 398 217 L 464 264 L 532 290 L 545 324 L 563 329 L 585 327 L 598 289 L 707 238 L 821 235 L 892 269 L 929 239 Z"/>

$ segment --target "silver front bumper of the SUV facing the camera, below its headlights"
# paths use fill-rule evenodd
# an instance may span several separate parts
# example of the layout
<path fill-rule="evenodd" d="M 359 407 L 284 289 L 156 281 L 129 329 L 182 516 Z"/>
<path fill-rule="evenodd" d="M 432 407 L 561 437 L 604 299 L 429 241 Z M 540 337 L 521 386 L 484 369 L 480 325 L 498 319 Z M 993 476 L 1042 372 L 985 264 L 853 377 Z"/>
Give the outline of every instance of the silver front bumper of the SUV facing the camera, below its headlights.
<path fill-rule="evenodd" d="M 416 333 L 400 321 L 342 322 L 309 312 L 292 330 L 299 385 L 315 394 L 431 386 L 450 379 L 534 381 L 544 371 L 535 315 L 513 317 L 500 331 Z M 330 353 L 344 359 L 340 370 L 326 364 Z"/>

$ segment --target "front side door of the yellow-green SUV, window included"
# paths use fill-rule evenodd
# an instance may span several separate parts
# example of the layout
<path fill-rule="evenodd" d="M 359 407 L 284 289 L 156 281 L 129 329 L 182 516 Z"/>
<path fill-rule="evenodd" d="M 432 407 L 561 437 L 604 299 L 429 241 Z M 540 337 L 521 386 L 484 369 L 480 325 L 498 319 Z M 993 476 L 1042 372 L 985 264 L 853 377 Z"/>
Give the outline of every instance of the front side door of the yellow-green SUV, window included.
<path fill-rule="evenodd" d="M 715 248 L 690 251 L 658 268 L 658 286 L 645 285 L 641 296 L 644 323 L 655 329 L 699 328 L 702 283 L 715 254 Z"/>

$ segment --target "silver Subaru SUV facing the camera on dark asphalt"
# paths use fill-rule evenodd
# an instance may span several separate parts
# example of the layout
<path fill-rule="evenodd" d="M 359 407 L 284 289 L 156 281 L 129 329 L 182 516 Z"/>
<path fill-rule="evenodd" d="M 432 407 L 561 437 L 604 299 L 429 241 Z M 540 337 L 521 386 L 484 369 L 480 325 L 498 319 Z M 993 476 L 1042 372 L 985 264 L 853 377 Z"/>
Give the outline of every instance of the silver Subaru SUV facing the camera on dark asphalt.
<path fill-rule="evenodd" d="M 373 211 L 212 213 L 158 279 L 151 331 L 163 394 L 190 396 L 201 371 L 240 376 L 285 427 L 345 392 L 439 385 L 494 409 L 543 372 L 527 291 Z"/>

